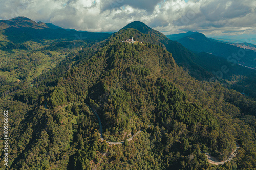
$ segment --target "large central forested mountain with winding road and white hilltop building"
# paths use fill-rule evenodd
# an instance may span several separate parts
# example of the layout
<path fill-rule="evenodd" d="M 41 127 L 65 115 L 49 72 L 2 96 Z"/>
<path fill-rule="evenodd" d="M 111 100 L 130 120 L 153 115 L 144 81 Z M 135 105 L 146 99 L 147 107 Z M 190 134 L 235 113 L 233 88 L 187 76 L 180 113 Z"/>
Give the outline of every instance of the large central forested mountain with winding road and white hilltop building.
<path fill-rule="evenodd" d="M 132 37 L 138 42 L 122 42 Z M 101 38 L 0 99 L 9 113 L 9 169 L 256 168 L 253 99 L 221 79 L 201 81 L 212 74 L 194 62 L 200 55 L 141 22 Z M 101 141 L 101 126 L 106 141 L 124 144 Z M 226 160 L 236 142 L 231 162 L 208 162 L 205 153 Z"/>

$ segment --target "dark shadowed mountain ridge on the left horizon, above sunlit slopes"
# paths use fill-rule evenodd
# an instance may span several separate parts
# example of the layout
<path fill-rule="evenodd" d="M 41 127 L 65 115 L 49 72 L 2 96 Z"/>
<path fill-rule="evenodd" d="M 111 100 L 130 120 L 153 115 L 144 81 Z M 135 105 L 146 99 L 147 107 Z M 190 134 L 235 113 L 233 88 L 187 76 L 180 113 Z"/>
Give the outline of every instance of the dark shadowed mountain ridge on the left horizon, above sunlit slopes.
<path fill-rule="evenodd" d="M 26 17 L 16 17 L 10 20 L 0 20 L 0 32 L 3 41 L 8 43 L 23 43 L 26 41 L 42 42 L 44 40 L 62 39 L 96 40 L 109 37 L 107 33 L 79 32 L 73 29 L 63 29 L 51 23 L 35 22 Z M 4 45 L 2 43 L 2 45 Z M 1 47 L 1 46 L 0 46 Z"/>

